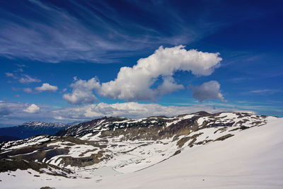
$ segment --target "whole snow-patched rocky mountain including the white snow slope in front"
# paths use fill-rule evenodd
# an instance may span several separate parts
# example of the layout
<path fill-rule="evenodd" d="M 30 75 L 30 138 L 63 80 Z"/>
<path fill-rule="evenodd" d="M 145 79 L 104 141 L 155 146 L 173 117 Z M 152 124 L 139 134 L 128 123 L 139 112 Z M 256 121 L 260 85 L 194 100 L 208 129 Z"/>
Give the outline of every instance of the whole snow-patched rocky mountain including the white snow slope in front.
<path fill-rule="evenodd" d="M 105 117 L 1 143 L 0 185 L 282 188 L 282 131 L 282 118 L 250 113 Z M 10 183 L 23 178 L 31 183 Z"/>

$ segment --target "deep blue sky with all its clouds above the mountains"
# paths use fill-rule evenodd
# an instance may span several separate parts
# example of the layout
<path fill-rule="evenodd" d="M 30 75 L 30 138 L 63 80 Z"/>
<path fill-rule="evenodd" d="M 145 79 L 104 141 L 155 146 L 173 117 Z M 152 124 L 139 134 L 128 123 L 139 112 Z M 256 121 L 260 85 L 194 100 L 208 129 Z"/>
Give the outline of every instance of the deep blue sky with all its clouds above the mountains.
<path fill-rule="evenodd" d="M 283 116 L 282 1 L 0 1 L 0 127 Z"/>

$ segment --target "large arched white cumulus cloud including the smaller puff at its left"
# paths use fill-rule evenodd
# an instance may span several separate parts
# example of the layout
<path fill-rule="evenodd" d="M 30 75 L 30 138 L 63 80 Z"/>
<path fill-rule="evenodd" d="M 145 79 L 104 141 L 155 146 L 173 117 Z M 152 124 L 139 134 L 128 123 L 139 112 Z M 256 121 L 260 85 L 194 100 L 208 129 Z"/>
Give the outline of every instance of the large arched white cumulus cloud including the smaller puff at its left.
<path fill-rule="evenodd" d="M 93 103 L 96 100 L 93 90 L 98 95 L 125 101 L 154 101 L 158 96 L 185 88 L 177 84 L 175 71 L 191 71 L 196 76 L 208 76 L 219 67 L 219 53 L 185 50 L 183 45 L 159 47 L 146 58 L 137 61 L 134 67 L 121 67 L 117 78 L 100 84 L 96 78 L 88 81 L 78 80 L 71 85 L 72 93 L 64 94 L 69 103 Z M 154 87 L 155 82 L 163 82 Z"/>

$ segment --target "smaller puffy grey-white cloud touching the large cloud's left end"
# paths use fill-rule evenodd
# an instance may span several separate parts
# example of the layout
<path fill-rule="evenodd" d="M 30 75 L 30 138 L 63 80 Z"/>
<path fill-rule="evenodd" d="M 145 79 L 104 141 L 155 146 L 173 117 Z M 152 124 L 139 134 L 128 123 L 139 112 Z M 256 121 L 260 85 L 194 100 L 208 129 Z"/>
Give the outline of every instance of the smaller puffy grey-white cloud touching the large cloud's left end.
<path fill-rule="evenodd" d="M 100 87 L 96 78 L 89 79 L 88 81 L 74 78 L 74 83 L 70 85 L 73 88 L 71 93 L 63 95 L 64 100 L 71 104 L 93 103 L 97 100 L 93 94 L 93 90 Z"/>

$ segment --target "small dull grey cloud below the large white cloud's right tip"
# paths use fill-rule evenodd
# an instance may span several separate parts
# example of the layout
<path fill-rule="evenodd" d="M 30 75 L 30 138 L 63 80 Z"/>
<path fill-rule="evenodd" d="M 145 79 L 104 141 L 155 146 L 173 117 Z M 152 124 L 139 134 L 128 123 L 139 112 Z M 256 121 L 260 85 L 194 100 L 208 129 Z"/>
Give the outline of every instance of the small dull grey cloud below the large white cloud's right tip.
<path fill-rule="evenodd" d="M 217 81 L 208 81 L 200 86 L 192 86 L 192 97 L 202 102 L 208 99 L 217 99 L 226 102 L 220 92 L 220 84 Z"/>

